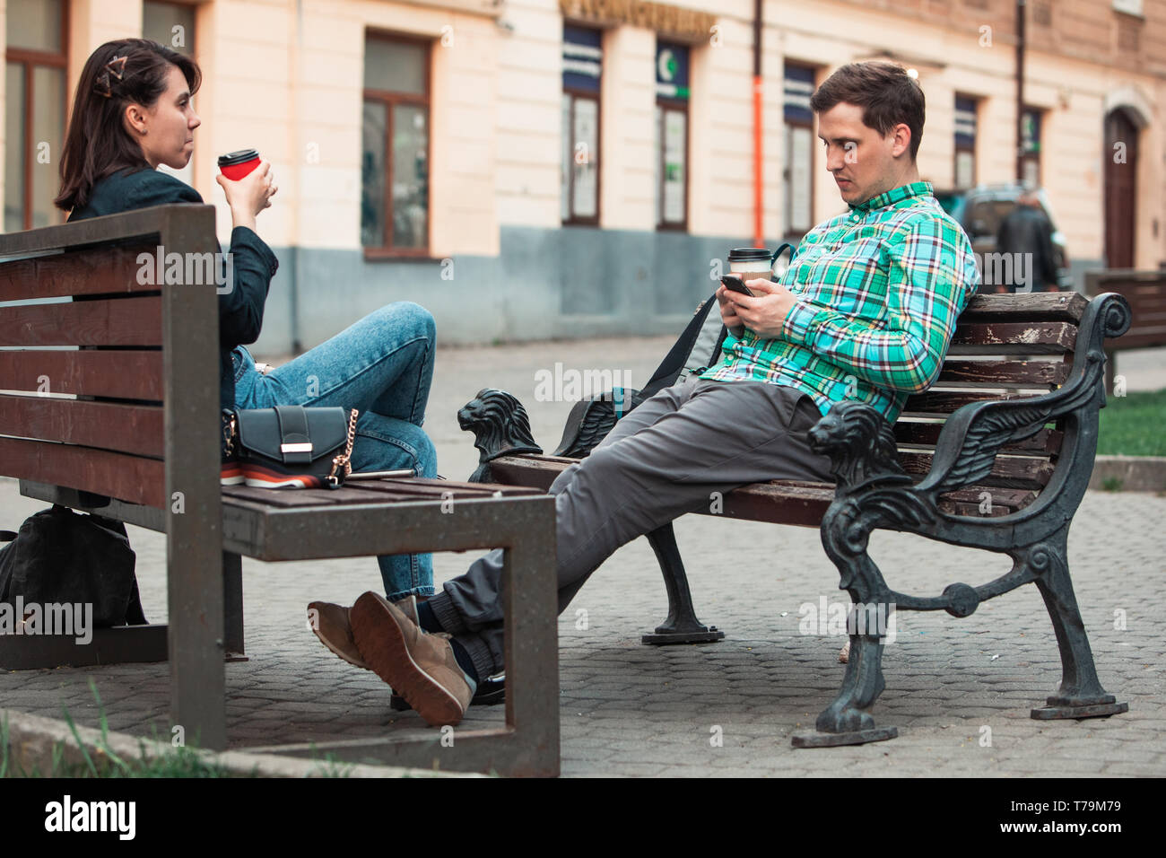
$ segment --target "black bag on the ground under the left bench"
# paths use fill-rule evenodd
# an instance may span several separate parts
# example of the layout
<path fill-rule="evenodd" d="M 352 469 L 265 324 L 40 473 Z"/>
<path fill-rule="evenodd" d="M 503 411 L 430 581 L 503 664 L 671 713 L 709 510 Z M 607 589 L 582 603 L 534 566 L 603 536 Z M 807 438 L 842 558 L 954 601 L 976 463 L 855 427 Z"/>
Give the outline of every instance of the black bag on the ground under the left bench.
<path fill-rule="evenodd" d="M 0 549 L 0 602 L 15 606 L 16 622 L 33 606 L 42 622 L 59 616 L 59 606 L 92 606 L 94 628 L 146 623 L 121 522 L 54 505 L 26 518 L 19 533 L 0 531 L 0 540 L 10 542 Z"/>

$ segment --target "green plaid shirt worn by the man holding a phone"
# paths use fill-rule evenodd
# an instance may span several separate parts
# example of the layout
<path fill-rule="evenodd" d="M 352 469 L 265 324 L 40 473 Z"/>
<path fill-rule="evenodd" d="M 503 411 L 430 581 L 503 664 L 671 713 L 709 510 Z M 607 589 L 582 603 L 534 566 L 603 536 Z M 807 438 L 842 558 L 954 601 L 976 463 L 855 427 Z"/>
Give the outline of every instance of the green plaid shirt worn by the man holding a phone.
<path fill-rule="evenodd" d="M 979 271 L 932 186 L 913 182 L 806 233 L 781 285 L 798 301 L 781 334 L 730 335 L 701 377 L 794 388 L 823 414 L 859 399 L 894 423 L 907 396 L 939 375 Z"/>

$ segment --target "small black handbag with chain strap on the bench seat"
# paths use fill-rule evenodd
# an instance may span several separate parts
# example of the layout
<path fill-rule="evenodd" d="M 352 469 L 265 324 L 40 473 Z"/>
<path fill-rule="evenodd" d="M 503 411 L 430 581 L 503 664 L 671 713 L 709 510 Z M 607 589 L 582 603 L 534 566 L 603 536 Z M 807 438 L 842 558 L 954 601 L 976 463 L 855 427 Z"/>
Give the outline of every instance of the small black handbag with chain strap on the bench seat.
<path fill-rule="evenodd" d="M 276 405 L 223 412 L 226 460 L 247 486 L 338 489 L 352 473 L 358 411 Z"/>

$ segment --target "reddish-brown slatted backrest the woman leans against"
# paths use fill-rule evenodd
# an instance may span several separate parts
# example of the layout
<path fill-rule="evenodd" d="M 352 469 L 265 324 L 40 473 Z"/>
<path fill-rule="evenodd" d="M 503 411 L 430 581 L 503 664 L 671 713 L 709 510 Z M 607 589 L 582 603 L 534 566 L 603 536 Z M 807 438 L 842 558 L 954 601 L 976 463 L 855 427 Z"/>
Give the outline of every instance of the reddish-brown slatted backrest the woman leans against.
<path fill-rule="evenodd" d="M 0 474 L 166 509 L 209 468 L 217 503 L 215 284 L 140 277 L 159 247 L 216 252 L 213 208 L 0 236 L 0 301 L 38 301 L 0 306 Z"/>

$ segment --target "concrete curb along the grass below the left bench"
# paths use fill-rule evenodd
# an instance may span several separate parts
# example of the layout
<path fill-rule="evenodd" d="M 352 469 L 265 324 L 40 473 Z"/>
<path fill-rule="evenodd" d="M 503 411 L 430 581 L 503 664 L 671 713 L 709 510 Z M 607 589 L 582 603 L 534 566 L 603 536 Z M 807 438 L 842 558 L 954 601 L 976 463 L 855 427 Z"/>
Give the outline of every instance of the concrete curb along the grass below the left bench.
<path fill-rule="evenodd" d="M 58 766 L 84 766 L 85 758 L 77 745 L 69 725 L 56 718 L 0 709 L 0 724 L 8 725 L 9 768 L 31 772 L 50 772 Z M 99 759 L 106 747 L 124 760 L 139 760 L 145 755 L 164 755 L 173 751 L 166 742 L 141 739 L 128 733 L 106 734 L 101 741 L 101 731 L 77 725 L 77 734 L 85 745 L 91 758 Z M 143 753 L 145 752 L 145 753 Z M 349 763 L 324 763 L 317 760 L 302 760 L 280 754 L 253 754 L 244 751 L 195 751 L 208 762 L 217 765 L 237 777 L 326 777 L 340 773 L 345 777 L 484 777 L 479 774 L 461 772 L 434 772 L 421 768 L 403 768 L 399 766 L 368 766 Z"/>

